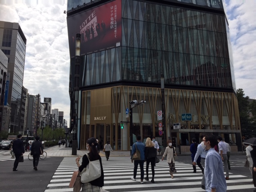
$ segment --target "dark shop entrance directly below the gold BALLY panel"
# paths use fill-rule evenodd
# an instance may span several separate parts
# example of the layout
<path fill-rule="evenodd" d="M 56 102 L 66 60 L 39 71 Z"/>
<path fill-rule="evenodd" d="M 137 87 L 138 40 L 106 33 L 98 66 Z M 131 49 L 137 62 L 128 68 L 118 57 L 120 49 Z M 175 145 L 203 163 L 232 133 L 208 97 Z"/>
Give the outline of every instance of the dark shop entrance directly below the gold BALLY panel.
<path fill-rule="evenodd" d="M 90 137 L 99 140 L 100 150 L 104 148 L 107 141 L 110 140 L 110 124 L 93 124 L 91 125 Z"/>

